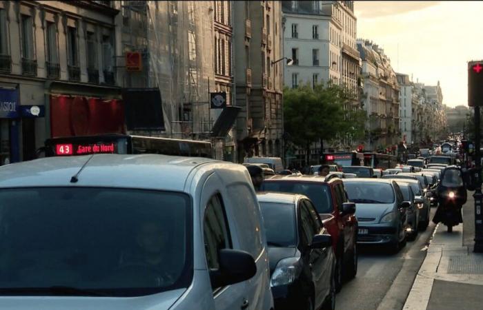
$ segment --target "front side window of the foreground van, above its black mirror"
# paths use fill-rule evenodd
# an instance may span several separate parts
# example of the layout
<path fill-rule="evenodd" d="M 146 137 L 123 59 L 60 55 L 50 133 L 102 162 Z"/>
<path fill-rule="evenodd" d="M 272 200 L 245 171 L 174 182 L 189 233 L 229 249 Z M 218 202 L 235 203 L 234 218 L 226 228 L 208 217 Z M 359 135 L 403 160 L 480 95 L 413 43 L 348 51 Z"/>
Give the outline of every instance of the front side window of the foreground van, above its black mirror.
<path fill-rule="evenodd" d="M 206 205 L 203 231 L 208 268 L 218 269 L 218 251 L 230 248 L 228 223 L 219 194 L 213 196 Z"/>

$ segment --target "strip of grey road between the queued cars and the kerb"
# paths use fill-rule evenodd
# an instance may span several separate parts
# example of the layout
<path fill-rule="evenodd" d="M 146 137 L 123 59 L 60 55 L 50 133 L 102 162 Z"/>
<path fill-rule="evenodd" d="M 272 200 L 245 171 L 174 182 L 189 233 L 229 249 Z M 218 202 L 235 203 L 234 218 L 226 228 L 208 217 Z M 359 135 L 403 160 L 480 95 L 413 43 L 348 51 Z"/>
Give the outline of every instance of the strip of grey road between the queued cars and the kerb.
<path fill-rule="evenodd" d="M 431 208 L 431 218 L 435 210 Z M 359 247 L 357 276 L 337 294 L 337 309 L 402 309 L 434 228 L 435 224 L 430 222 L 426 231 L 397 254 Z"/>

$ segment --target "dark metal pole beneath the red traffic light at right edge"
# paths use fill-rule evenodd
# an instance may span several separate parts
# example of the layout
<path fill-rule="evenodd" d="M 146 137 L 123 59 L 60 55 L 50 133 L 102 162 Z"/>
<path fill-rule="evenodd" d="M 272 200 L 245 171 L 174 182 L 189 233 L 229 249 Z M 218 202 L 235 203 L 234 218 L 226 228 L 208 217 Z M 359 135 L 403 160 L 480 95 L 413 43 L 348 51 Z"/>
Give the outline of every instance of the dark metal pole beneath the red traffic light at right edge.
<path fill-rule="evenodd" d="M 481 158 L 480 152 L 480 107 L 475 106 L 475 166 L 476 166 L 476 188 L 475 194 L 475 247 L 473 251 L 477 253 L 483 252 L 483 194 L 482 194 L 482 176 L 481 176 Z"/>

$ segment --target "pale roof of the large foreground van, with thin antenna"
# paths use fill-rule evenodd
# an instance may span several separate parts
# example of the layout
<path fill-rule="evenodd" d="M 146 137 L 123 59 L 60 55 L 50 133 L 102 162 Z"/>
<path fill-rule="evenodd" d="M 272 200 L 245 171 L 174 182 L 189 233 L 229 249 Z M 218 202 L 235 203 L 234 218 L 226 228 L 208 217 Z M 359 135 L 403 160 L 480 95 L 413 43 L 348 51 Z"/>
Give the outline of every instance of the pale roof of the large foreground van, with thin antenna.
<path fill-rule="evenodd" d="M 216 163 L 209 158 L 157 154 L 48 157 L 0 167 L 1 187 L 95 186 L 182 191 L 190 172 Z M 85 167 L 83 167 L 85 165 Z M 233 166 L 246 169 L 242 165 Z M 78 181 L 71 183 L 72 176 Z"/>

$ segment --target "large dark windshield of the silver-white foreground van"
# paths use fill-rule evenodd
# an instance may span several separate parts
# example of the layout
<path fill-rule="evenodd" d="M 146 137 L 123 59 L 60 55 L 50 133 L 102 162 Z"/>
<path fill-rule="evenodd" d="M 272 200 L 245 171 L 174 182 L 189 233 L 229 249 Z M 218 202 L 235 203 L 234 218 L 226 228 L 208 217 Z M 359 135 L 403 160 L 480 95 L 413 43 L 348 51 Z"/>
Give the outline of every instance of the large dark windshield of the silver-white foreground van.
<path fill-rule="evenodd" d="M 189 287 L 190 208 L 190 198 L 174 192 L 0 189 L 0 295 L 143 296 Z"/>

